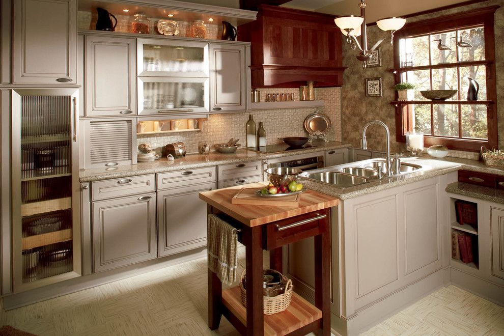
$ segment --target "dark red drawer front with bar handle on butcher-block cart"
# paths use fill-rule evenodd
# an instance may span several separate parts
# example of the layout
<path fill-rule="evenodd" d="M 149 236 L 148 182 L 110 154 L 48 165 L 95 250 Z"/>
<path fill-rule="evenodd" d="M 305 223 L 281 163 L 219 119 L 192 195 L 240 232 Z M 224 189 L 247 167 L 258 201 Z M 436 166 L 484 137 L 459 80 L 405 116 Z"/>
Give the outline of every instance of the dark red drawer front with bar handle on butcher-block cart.
<path fill-rule="evenodd" d="M 330 210 L 322 209 L 267 224 L 264 249 L 271 250 L 329 230 Z"/>

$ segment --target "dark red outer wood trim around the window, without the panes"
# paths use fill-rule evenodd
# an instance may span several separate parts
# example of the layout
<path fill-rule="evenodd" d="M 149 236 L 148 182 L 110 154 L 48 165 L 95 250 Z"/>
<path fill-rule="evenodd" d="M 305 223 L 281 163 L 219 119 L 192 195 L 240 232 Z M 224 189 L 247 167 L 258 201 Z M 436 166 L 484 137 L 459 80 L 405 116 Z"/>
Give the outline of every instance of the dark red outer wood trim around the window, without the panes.
<path fill-rule="evenodd" d="M 449 149 L 480 151 L 481 146 L 491 148 L 498 145 L 497 124 L 497 83 L 495 69 L 495 22 L 494 13 L 500 6 L 489 6 L 471 10 L 469 12 L 440 16 L 427 20 L 406 23 L 406 25 L 394 36 L 394 77 L 395 82 L 401 81 L 401 62 L 399 52 L 399 40 L 401 38 L 425 35 L 432 32 L 448 31 L 470 25 L 483 24 L 485 26 L 485 61 L 487 80 L 488 104 L 487 128 L 488 139 L 481 141 L 476 139 L 456 139 L 451 137 L 424 135 L 424 144 L 427 146 L 441 144 Z M 461 24 L 461 22 L 463 22 Z M 403 68 L 410 70 L 409 68 Z M 410 114 L 407 113 L 406 105 L 396 106 L 396 141 L 406 142 L 404 135 L 405 123 L 411 123 Z M 407 120 L 409 119 L 409 120 Z"/>

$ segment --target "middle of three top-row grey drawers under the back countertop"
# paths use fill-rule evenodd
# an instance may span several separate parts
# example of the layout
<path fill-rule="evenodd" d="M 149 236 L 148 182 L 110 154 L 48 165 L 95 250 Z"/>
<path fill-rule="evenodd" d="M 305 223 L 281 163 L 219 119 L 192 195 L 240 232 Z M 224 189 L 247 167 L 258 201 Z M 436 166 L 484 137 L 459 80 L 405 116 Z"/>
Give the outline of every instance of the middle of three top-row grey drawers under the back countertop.
<path fill-rule="evenodd" d="M 215 167 L 157 174 L 157 189 L 176 188 L 216 181 Z"/>

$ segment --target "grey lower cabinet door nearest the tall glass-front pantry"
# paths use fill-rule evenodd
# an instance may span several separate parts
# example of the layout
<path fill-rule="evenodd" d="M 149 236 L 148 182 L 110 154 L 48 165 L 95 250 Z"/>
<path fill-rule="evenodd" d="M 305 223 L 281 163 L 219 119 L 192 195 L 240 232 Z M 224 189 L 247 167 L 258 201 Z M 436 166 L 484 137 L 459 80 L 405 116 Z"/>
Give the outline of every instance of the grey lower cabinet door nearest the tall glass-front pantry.
<path fill-rule="evenodd" d="M 101 272 L 156 258 L 156 194 L 93 202 L 93 264 Z"/>

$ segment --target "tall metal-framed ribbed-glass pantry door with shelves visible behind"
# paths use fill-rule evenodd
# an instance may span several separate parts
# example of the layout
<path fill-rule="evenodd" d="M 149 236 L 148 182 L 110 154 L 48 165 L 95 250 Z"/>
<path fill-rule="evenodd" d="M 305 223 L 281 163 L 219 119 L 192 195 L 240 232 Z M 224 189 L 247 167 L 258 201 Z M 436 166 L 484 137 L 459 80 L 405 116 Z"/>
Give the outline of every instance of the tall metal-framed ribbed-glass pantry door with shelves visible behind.
<path fill-rule="evenodd" d="M 77 97 L 12 90 L 14 292 L 81 274 Z"/>

